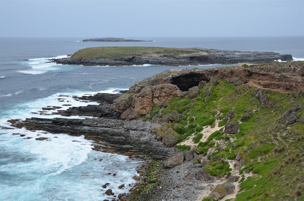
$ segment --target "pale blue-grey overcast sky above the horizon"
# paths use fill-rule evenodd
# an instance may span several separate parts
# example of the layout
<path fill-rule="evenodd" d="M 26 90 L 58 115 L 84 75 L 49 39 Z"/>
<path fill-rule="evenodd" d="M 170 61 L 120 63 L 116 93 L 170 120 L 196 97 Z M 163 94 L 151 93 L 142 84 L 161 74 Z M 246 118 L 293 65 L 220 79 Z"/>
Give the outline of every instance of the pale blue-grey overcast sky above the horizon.
<path fill-rule="evenodd" d="M 303 36 L 304 0 L 0 0 L 2 37 Z"/>

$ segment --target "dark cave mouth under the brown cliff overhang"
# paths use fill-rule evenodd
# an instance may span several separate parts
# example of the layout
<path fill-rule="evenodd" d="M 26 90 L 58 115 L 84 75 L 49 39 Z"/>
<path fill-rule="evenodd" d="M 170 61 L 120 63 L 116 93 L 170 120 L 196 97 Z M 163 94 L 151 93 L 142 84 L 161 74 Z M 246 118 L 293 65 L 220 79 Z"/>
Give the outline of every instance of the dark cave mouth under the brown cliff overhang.
<path fill-rule="evenodd" d="M 201 81 L 209 82 L 210 79 L 202 73 L 189 73 L 187 75 L 181 75 L 174 77 L 171 80 L 171 84 L 178 86 L 181 91 L 188 91 L 191 87 L 198 86 Z"/>

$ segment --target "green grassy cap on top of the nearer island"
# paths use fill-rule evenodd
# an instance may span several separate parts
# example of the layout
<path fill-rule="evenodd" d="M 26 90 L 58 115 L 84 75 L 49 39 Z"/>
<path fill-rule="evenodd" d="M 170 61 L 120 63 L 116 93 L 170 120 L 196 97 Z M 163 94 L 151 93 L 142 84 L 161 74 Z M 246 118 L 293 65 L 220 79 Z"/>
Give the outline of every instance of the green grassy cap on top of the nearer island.
<path fill-rule="evenodd" d="M 131 58 L 133 56 L 181 56 L 205 53 L 205 50 L 168 47 L 89 47 L 80 49 L 71 57 L 74 59 Z"/>

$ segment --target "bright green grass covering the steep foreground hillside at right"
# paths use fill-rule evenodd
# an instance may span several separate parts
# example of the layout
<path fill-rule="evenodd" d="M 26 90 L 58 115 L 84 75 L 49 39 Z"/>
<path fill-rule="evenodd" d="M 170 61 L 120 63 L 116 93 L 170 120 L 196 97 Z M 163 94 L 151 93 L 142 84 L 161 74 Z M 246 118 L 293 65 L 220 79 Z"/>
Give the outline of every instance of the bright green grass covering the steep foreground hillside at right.
<path fill-rule="evenodd" d="M 205 102 L 203 94 L 209 87 L 213 90 Z M 234 159 L 238 152 L 243 166 L 240 174 L 252 171 L 256 175 L 242 179 L 244 181 L 240 184 L 236 200 L 304 200 L 304 124 L 296 122 L 287 128 L 282 120 L 284 112 L 295 104 L 304 104 L 304 94 L 297 97 L 295 94 L 268 90 L 270 104 L 262 108 L 261 101 L 254 94 L 255 90 L 255 87 L 235 86 L 219 80 L 219 85 L 209 84 L 202 89 L 196 101 L 191 102 L 188 98 L 172 99 L 168 107 L 154 106 L 151 114 L 159 117 L 172 111 L 184 114 L 184 118 L 175 121 L 178 124 L 176 131 L 181 135 L 186 134 L 185 137 L 180 136 L 180 141 L 192 133 L 199 135 L 202 127 L 214 124 L 216 118 L 222 120 L 231 109 L 234 109 L 236 115 L 230 121 L 239 121 L 249 114 L 249 119 L 240 123 L 240 132 L 236 135 L 227 135 L 223 130 L 216 131 L 206 142 L 197 145 L 199 153 L 208 154 L 210 163 L 205 166 L 206 171 L 218 177 L 229 175 L 229 166 L 222 162 L 217 164 L 212 156 Z M 193 108 L 188 109 L 192 104 Z M 223 114 L 216 117 L 219 112 Z M 301 118 L 304 108 L 297 114 Z M 278 126 L 278 123 L 282 125 Z M 188 125 L 188 129 L 183 128 L 185 125 Z M 236 140 L 230 143 L 230 137 L 236 137 Z M 217 147 L 221 139 L 225 140 L 226 148 L 219 151 Z M 264 139 L 266 141 L 262 143 Z M 256 141 L 257 146 L 252 146 L 252 141 Z M 180 148 L 187 149 L 185 146 Z"/>

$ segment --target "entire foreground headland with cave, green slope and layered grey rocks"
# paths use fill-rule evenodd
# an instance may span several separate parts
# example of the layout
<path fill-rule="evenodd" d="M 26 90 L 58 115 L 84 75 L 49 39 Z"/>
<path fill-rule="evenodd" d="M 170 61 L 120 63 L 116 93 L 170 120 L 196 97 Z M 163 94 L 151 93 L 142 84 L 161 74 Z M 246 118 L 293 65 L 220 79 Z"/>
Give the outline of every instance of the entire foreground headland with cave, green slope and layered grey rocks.
<path fill-rule="evenodd" d="M 141 84 L 55 112 L 97 118 L 10 122 L 144 155 L 131 193 L 108 189 L 108 200 L 304 199 L 304 62 L 169 71 Z"/>

